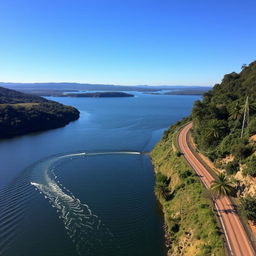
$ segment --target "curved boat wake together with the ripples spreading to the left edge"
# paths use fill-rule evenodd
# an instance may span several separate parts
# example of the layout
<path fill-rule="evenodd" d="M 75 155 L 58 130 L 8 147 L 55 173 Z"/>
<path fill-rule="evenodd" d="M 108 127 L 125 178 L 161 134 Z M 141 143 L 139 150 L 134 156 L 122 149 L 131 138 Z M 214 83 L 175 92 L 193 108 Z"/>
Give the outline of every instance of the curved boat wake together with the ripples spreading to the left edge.
<path fill-rule="evenodd" d="M 104 250 L 113 250 L 116 254 L 118 252 L 117 243 L 114 241 L 115 237 L 111 231 L 92 212 L 88 205 L 81 203 L 70 190 L 61 184 L 55 174 L 58 166 L 62 165 L 64 161 L 74 158 L 113 154 L 137 155 L 140 152 L 78 152 L 52 156 L 34 164 L 29 168 L 29 175 L 26 175 L 26 179 L 21 179 L 15 186 L 9 189 L 7 188 L 0 193 L 0 195 L 5 195 L 1 198 L 10 198 L 7 194 L 11 194 L 13 198 L 12 200 L 8 200 L 8 203 L 0 200 L 6 206 L 0 210 L 0 234 L 5 236 L 6 234 L 13 233 L 12 231 L 15 229 L 13 223 L 19 221 L 20 216 L 24 212 L 21 209 L 24 209 L 23 206 L 26 200 L 29 200 L 28 198 L 32 194 L 31 188 L 34 187 L 56 209 L 67 235 L 75 245 L 78 255 L 102 255 Z M 23 205 L 21 205 L 22 202 Z M 10 246 L 12 241 L 11 236 L 7 236 L 7 238 L 0 239 L 2 252 L 4 248 Z M 1 250 L 0 255 L 2 255 Z"/>

